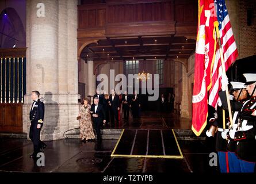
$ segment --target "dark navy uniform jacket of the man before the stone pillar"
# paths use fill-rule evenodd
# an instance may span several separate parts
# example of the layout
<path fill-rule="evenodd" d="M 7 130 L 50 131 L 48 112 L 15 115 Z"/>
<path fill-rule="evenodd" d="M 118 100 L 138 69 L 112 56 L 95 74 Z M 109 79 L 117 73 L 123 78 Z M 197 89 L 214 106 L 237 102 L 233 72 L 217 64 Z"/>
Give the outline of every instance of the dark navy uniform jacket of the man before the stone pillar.
<path fill-rule="evenodd" d="M 34 103 L 34 102 L 33 102 Z M 33 107 L 33 104 L 32 104 Z M 36 104 L 32 110 L 30 109 L 29 120 L 31 123 L 37 123 L 43 125 L 44 121 L 44 103 L 37 99 Z"/>

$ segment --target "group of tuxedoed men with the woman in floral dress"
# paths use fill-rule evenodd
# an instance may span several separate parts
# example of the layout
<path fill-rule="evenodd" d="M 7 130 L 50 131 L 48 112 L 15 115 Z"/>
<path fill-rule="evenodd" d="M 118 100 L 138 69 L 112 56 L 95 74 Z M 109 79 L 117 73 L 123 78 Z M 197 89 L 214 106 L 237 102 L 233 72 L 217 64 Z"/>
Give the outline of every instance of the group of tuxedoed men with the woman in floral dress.
<path fill-rule="evenodd" d="M 97 134 L 97 141 L 101 142 L 101 125 L 110 124 L 114 126 L 119 124 L 121 117 L 121 111 L 125 121 L 129 118 L 130 109 L 132 111 L 132 117 L 140 117 L 140 97 L 137 91 L 133 95 L 128 95 L 127 91 L 124 94 L 117 95 L 114 90 L 111 90 L 111 94 L 100 93 L 100 90 L 96 90 L 96 94 L 93 96 L 93 104 L 89 104 L 89 99 L 83 99 L 83 105 L 79 110 L 79 128 L 80 137 L 83 142 L 92 141 L 95 139 L 93 126 Z"/>

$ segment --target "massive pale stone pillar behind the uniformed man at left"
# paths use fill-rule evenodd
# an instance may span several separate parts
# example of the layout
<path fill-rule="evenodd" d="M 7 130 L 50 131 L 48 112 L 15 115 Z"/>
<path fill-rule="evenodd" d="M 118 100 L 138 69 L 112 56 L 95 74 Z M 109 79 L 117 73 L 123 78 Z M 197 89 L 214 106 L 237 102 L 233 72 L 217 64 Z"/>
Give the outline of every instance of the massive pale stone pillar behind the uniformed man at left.
<path fill-rule="evenodd" d="M 31 91 L 38 90 L 45 104 L 41 139 L 63 139 L 64 131 L 78 127 L 77 0 L 26 3 L 24 132 L 29 133 Z M 37 3 L 44 3 L 45 17 L 37 17 Z"/>

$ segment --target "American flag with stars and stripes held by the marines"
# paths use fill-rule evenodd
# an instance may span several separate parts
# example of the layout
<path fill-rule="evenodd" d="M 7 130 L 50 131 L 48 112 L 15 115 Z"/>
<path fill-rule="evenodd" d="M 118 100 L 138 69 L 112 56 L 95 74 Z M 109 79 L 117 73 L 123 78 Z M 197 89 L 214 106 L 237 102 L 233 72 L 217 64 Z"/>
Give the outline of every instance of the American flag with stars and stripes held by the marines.
<path fill-rule="evenodd" d="M 219 22 L 220 41 L 223 48 L 223 56 L 226 71 L 228 67 L 235 62 L 238 57 L 238 49 L 235 44 L 235 37 L 230 24 L 230 17 L 228 16 L 228 10 L 224 0 L 215 0 L 216 16 Z M 212 69 L 212 87 L 209 90 L 209 105 L 217 109 L 219 102 L 218 92 L 221 89 L 221 60 L 220 60 L 220 48 L 216 50 L 215 62 Z"/>

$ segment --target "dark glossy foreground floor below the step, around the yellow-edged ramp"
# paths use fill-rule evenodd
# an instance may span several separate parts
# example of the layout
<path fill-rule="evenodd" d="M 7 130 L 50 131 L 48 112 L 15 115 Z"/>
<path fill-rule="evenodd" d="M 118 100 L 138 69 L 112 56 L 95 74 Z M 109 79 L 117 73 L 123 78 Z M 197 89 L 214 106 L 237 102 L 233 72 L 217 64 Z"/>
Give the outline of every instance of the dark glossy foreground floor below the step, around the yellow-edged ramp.
<path fill-rule="evenodd" d="M 142 135 L 143 136 L 143 135 Z M 45 167 L 37 167 L 29 154 L 33 145 L 26 139 L 2 138 L 0 171 L 18 172 L 194 172 L 218 173 L 209 166 L 209 150 L 205 141 L 179 140 L 184 159 L 112 158 L 117 140 L 81 143 L 78 139 L 47 141 Z M 166 144 L 166 143 L 165 143 Z M 166 148 L 167 150 L 167 148 Z M 131 150 L 130 150 L 131 151 Z M 133 149 L 139 151 L 139 149 Z"/>

